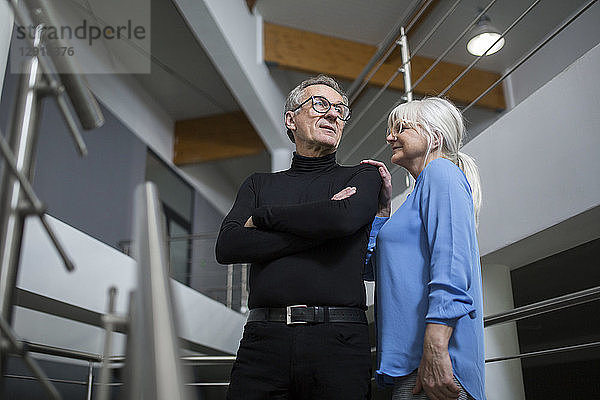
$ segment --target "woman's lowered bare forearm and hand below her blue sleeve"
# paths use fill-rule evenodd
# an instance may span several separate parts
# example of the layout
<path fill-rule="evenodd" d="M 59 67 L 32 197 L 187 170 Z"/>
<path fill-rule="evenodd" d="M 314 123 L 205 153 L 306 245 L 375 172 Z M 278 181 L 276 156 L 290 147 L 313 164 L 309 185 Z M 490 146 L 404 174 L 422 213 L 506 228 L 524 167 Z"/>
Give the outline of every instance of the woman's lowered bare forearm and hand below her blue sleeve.
<path fill-rule="evenodd" d="M 425 390 L 431 400 L 453 400 L 460 394 L 454 382 L 452 363 L 448 353 L 448 340 L 452 328 L 440 324 L 427 324 L 423 343 L 423 358 L 419 365 L 417 384 L 413 394 Z"/>

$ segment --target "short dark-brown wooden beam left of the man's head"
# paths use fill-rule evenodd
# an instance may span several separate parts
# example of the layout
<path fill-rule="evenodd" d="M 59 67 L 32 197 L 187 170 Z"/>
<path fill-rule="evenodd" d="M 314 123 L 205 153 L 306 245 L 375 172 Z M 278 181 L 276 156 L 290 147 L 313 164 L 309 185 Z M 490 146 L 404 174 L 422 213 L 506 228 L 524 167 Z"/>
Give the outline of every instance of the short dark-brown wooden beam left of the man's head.
<path fill-rule="evenodd" d="M 266 149 L 242 111 L 177 121 L 174 142 L 176 165 L 242 157 Z"/>

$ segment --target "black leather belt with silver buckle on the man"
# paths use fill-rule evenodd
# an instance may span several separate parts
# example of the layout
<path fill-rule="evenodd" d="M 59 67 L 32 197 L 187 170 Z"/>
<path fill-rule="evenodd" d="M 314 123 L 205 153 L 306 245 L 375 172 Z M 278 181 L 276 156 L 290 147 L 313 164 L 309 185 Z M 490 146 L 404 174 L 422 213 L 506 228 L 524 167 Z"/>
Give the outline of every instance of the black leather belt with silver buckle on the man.
<path fill-rule="evenodd" d="M 364 310 L 354 307 L 322 307 L 295 305 L 285 308 L 253 308 L 248 322 L 285 322 L 287 325 L 316 324 L 321 322 L 351 322 L 366 324 Z"/>

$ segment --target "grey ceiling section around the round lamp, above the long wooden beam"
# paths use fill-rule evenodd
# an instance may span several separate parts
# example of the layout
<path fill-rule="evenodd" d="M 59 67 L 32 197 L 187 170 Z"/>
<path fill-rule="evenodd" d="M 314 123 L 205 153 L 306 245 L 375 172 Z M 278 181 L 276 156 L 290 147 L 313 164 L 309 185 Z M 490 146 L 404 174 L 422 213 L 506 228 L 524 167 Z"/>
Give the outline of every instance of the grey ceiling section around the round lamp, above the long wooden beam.
<path fill-rule="evenodd" d="M 413 32 L 409 31 L 411 48 L 415 48 L 421 42 L 455 2 L 456 0 L 445 0 L 432 3 L 431 13 Z M 422 47 L 419 54 L 436 58 L 475 19 L 478 10 L 485 8 L 490 2 L 491 0 L 459 1 L 456 9 Z M 258 0 L 256 8 L 267 22 L 378 45 L 398 21 L 404 18 L 406 10 L 410 9 L 413 3 L 412 0 Z M 497 0 L 486 15 L 492 25 L 503 31 L 533 3 L 534 0 Z M 541 1 L 507 34 L 504 48 L 499 53 L 482 59 L 478 68 L 496 72 L 509 68 L 584 3 L 585 0 Z M 356 29 L 357 26 L 360 26 L 360 29 Z M 468 65 L 474 59 L 475 57 L 466 51 L 466 38 L 444 58 L 461 65 Z"/>

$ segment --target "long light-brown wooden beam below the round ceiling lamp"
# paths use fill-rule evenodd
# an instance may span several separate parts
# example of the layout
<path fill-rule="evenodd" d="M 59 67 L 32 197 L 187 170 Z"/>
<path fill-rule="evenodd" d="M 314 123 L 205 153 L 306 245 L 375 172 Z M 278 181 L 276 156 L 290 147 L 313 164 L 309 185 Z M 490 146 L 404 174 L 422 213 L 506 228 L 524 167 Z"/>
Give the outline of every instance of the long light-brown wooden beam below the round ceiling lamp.
<path fill-rule="evenodd" d="M 280 25 L 264 23 L 264 59 L 268 65 L 308 73 L 323 73 L 341 79 L 354 80 L 376 51 L 370 46 L 345 39 L 301 31 Z M 432 65 L 433 59 L 415 56 L 411 61 L 413 82 Z M 395 58 L 388 59 L 370 84 L 383 86 L 400 65 Z M 440 93 L 465 67 L 449 62 L 440 62 L 419 83 L 414 92 L 434 96 Z M 500 74 L 472 69 L 446 96 L 458 103 L 470 103 L 492 85 Z M 390 88 L 403 90 L 402 74 L 392 82 Z M 502 85 L 499 85 L 478 103 L 480 107 L 503 110 L 506 108 Z"/>

